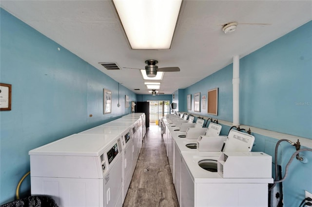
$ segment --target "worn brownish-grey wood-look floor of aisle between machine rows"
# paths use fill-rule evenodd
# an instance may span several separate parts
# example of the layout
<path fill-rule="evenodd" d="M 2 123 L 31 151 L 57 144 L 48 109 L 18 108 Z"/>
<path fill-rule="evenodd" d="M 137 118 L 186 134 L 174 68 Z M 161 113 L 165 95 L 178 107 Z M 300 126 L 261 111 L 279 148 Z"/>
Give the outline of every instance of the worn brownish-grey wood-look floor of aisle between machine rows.
<path fill-rule="evenodd" d="M 148 169 L 148 172 L 144 172 Z M 178 207 L 166 149 L 160 128 L 146 130 L 137 167 L 123 207 Z"/>

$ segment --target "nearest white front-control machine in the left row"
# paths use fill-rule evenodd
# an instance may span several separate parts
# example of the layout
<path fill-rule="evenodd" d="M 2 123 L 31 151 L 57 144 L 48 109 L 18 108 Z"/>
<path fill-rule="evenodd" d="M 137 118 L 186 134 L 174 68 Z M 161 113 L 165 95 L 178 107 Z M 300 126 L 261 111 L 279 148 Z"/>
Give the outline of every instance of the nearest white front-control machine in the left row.
<path fill-rule="evenodd" d="M 122 206 L 119 135 L 74 134 L 29 151 L 32 195 L 59 207 Z"/>

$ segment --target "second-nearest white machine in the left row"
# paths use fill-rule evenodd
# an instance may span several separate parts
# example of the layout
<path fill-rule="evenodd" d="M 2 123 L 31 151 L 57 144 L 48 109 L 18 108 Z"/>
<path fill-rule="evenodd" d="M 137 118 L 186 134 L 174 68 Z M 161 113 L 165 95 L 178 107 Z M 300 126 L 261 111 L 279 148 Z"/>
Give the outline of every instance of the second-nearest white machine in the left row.
<path fill-rule="evenodd" d="M 133 140 L 131 127 L 97 126 L 79 134 L 117 134 L 122 140 L 122 202 L 124 201 L 132 179 Z"/>

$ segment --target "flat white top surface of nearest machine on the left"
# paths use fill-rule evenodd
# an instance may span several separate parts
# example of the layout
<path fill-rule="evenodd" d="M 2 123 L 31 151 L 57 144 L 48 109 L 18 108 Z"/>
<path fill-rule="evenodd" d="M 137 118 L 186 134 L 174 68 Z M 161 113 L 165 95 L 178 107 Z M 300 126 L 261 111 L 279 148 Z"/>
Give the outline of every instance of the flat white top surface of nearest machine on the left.
<path fill-rule="evenodd" d="M 74 134 L 29 151 L 29 155 L 99 156 L 120 136 Z"/>

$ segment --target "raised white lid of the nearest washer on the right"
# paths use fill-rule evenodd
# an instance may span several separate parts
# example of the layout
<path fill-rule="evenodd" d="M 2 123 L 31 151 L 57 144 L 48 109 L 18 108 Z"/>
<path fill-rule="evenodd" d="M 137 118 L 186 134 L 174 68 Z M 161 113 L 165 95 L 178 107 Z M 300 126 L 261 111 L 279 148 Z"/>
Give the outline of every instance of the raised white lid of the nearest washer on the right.
<path fill-rule="evenodd" d="M 228 135 L 223 152 L 251 152 L 254 136 L 232 129 Z"/>

